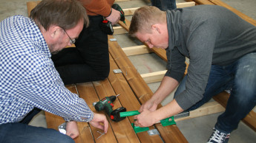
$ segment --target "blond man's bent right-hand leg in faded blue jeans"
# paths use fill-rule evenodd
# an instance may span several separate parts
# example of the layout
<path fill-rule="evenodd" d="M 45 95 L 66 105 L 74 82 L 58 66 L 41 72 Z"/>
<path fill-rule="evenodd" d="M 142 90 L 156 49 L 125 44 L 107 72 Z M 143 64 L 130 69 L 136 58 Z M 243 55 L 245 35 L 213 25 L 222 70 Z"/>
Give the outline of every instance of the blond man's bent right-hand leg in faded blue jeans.
<path fill-rule="evenodd" d="M 234 67 L 234 86 L 226 105 L 215 125 L 217 130 L 230 133 L 256 105 L 256 53 L 241 57 Z"/>

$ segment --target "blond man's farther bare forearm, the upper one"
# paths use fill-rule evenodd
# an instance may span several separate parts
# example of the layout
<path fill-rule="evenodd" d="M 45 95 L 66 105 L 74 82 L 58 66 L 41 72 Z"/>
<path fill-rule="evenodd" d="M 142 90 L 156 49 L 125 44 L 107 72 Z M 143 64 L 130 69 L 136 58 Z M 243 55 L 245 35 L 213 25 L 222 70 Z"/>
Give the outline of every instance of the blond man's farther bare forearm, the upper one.
<path fill-rule="evenodd" d="M 153 100 L 157 105 L 162 102 L 165 97 L 167 97 L 174 89 L 179 85 L 177 80 L 174 80 L 174 78 L 171 77 L 163 77 L 163 80 L 157 89 L 157 91 L 154 93 L 151 100 Z"/>

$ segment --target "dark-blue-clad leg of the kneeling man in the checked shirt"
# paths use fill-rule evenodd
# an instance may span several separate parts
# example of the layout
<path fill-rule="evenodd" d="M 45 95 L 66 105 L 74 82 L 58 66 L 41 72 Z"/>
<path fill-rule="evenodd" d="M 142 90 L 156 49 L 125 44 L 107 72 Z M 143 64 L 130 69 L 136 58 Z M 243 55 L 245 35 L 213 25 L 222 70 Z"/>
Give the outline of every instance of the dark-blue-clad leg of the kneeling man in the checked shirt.
<path fill-rule="evenodd" d="M 74 142 L 70 136 L 49 128 L 33 127 L 22 123 L 7 123 L 0 125 L 0 142 Z"/>

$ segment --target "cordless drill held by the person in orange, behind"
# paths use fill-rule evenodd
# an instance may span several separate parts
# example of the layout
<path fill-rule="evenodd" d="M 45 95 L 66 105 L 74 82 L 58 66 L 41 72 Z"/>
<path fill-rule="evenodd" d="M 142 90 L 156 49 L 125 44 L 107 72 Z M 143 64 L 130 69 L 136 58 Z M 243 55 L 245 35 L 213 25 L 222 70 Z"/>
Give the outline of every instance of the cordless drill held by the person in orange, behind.
<path fill-rule="evenodd" d="M 112 8 L 120 12 L 120 21 L 122 21 L 125 24 L 125 13 L 123 12 L 119 4 L 113 4 Z M 114 29 L 110 21 L 107 21 L 107 20 L 102 21 L 102 23 L 99 24 L 99 27 L 102 29 L 103 32 L 105 32 L 108 35 L 113 35 L 114 33 Z"/>

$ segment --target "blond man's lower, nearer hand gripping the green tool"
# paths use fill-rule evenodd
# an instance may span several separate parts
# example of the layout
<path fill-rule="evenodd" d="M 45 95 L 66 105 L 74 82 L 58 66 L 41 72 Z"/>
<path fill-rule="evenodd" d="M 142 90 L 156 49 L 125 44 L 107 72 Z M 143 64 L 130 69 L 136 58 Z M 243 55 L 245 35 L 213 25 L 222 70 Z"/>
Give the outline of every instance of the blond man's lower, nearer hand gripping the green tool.
<path fill-rule="evenodd" d="M 134 116 L 134 119 L 137 119 L 134 122 L 134 125 L 139 127 L 149 127 L 154 125 L 154 123 L 158 122 L 157 118 L 153 115 L 153 112 L 148 110 L 143 110 L 141 114 Z"/>

